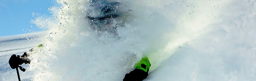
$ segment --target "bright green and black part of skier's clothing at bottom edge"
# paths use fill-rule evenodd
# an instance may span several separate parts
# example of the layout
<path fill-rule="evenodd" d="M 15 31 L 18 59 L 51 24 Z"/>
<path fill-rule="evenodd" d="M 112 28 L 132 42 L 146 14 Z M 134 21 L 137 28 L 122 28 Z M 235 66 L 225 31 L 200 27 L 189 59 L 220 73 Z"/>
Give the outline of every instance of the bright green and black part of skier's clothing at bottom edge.
<path fill-rule="evenodd" d="M 148 76 L 148 71 L 151 64 L 147 57 L 143 57 L 141 61 L 136 64 L 135 69 L 126 74 L 123 81 L 142 81 Z"/>

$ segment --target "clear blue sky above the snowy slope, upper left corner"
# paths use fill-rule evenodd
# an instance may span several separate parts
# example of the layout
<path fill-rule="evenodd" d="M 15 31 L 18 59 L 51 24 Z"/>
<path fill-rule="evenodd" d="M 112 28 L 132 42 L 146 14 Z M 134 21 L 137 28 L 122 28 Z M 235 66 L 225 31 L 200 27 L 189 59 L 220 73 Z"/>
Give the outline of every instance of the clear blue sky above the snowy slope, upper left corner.
<path fill-rule="evenodd" d="M 51 15 L 48 8 L 57 4 L 56 0 L 0 0 L 0 37 L 41 31 L 29 22 L 32 14 Z"/>

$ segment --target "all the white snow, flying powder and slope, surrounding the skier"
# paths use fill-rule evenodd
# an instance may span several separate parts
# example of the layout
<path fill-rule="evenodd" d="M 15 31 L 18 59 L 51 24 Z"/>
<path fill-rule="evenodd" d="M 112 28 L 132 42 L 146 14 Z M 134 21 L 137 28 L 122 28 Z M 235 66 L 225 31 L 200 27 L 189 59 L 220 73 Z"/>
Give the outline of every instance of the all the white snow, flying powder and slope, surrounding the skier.
<path fill-rule="evenodd" d="M 57 1 L 32 20 L 45 31 L 0 37 L 0 81 L 17 80 L 8 60 L 31 48 L 25 81 L 122 81 L 143 56 L 144 81 L 256 80 L 256 0 L 117 0 L 132 10 L 118 34 L 90 28 L 87 0 Z"/>

